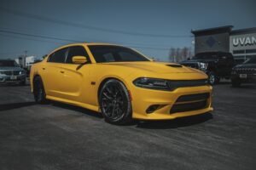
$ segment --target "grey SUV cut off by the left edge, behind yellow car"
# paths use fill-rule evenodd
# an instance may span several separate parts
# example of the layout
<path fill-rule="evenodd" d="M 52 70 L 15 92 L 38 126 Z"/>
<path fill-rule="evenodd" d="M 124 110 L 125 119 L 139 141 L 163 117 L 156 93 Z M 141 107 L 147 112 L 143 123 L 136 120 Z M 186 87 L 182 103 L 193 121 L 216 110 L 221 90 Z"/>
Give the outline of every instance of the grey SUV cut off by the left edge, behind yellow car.
<path fill-rule="evenodd" d="M 26 84 L 26 71 L 15 60 L 0 59 L 0 83 Z"/>

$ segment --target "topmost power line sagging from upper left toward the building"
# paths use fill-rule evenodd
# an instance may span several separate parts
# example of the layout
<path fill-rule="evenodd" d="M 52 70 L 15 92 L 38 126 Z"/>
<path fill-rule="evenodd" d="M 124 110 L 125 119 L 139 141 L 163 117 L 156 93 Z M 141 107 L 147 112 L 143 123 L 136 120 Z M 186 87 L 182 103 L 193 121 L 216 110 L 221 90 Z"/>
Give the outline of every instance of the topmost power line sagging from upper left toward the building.
<path fill-rule="evenodd" d="M 18 16 L 31 18 L 34 20 L 42 20 L 42 21 L 51 22 L 54 24 L 63 25 L 63 26 L 73 26 L 73 27 L 79 27 L 79 28 L 84 28 L 84 29 L 93 30 L 93 31 L 105 31 L 105 32 L 119 33 L 119 34 L 131 35 L 131 36 L 140 36 L 140 37 L 166 37 L 166 38 L 191 37 L 191 36 L 182 36 L 182 35 L 148 34 L 148 33 L 133 32 L 133 31 L 120 31 L 120 30 L 114 30 L 114 29 L 108 29 L 108 28 L 102 28 L 102 27 L 96 27 L 96 26 L 83 25 L 83 24 L 79 24 L 79 23 L 72 23 L 72 22 L 67 22 L 65 20 L 51 19 L 49 17 L 45 17 L 42 15 L 29 14 L 29 13 L 25 13 L 22 11 L 9 9 L 9 8 L 0 7 L 0 9 L 1 9 L 1 11 L 5 12 L 5 13 L 15 14 Z"/>

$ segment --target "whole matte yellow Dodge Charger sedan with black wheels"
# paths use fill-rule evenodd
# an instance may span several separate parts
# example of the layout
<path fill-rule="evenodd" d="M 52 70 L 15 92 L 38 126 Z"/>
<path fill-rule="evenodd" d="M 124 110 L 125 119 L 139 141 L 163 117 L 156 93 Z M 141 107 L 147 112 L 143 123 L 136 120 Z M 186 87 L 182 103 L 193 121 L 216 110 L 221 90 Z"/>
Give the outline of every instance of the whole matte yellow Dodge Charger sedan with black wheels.
<path fill-rule="evenodd" d="M 212 87 L 202 71 L 155 62 L 131 48 L 76 43 L 32 65 L 38 103 L 56 100 L 101 112 L 107 122 L 166 120 L 212 111 Z"/>

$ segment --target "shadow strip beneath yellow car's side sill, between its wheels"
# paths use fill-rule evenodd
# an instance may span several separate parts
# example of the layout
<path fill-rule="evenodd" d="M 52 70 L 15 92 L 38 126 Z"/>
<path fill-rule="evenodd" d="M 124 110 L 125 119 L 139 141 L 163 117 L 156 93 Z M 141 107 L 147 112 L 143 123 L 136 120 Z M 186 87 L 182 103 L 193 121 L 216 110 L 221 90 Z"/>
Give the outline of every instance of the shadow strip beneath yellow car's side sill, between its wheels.
<path fill-rule="evenodd" d="M 89 116 L 95 116 L 95 117 L 99 117 L 99 118 L 103 118 L 102 114 L 99 114 L 96 111 L 91 111 L 88 109 L 85 109 L 83 107 L 79 107 L 79 106 L 75 106 L 75 105 L 68 105 L 68 104 L 64 104 L 64 103 L 59 103 L 56 101 L 50 101 L 51 105 L 54 105 L 55 107 L 61 107 L 62 109 L 67 109 L 70 111 L 78 111 L 80 113 L 89 115 Z"/>

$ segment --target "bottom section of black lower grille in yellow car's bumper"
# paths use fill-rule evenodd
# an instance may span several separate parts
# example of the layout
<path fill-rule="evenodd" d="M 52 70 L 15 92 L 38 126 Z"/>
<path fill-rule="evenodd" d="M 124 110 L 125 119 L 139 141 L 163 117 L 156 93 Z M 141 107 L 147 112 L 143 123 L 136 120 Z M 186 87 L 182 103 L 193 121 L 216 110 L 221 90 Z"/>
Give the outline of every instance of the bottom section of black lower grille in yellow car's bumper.
<path fill-rule="evenodd" d="M 196 111 L 201 110 L 204 108 L 207 108 L 207 99 L 193 102 L 193 103 L 187 103 L 187 104 L 175 104 L 172 106 L 172 109 L 170 113 L 177 113 L 177 112 L 183 112 L 183 111 Z"/>

